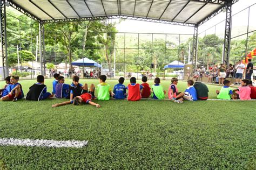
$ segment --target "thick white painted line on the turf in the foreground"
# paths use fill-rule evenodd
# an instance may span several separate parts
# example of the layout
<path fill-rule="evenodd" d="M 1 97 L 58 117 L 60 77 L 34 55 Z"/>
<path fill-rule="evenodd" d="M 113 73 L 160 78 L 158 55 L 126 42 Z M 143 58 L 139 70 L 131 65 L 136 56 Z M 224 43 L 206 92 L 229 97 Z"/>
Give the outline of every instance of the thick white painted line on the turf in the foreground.
<path fill-rule="evenodd" d="M 76 147 L 82 148 L 88 140 L 45 140 L 45 139 L 14 139 L 0 138 L 0 146 L 43 146 L 43 147 Z"/>

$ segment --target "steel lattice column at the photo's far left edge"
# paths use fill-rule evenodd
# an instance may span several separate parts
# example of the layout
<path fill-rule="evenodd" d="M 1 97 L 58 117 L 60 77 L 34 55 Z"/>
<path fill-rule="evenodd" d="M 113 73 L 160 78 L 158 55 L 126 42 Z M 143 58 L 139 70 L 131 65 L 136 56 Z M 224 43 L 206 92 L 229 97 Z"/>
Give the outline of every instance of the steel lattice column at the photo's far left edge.
<path fill-rule="evenodd" d="M 0 61 L 0 70 L 2 67 L 2 72 L 0 72 L 2 78 L 9 75 L 8 71 L 8 53 L 7 53 L 7 41 L 6 41 L 6 8 L 5 8 L 5 1 L 1 1 L 1 61 Z"/>

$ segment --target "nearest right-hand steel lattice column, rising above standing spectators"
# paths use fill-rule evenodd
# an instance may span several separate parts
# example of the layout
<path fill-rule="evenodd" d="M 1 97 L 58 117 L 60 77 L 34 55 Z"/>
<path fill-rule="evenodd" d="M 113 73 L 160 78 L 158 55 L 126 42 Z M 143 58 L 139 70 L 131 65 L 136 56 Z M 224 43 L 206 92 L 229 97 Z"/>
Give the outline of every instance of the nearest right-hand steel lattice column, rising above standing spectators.
<path fill-rule="evenodd" d="M 228 65 L 230 60 L 230 41 L 231 41 L 231 21 L 232 21 L 232 0 L 225 2 L 226 7 L 226 24 L 225 24 L 225 39 L 224 39 L 224 58 L 223 63 Z"/>

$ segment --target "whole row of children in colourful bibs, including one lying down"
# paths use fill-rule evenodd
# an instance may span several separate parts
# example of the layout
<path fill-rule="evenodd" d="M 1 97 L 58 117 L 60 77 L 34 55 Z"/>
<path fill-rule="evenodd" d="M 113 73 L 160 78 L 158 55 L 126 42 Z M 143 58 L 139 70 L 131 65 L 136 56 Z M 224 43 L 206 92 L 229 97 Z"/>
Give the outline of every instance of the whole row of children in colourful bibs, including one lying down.
<path fill-rule="evenodd" d="M 69 101 L 63 103 L 53 104 L 52 107 L 59 107 L 65 104 L 81 105 L 82 103 L 88 103 L 100 107 L 99 104 L 92 102 L 96 98 L 95 85 L 91 84 L 90 88 L 85 83 L 79 83 L 79 77 L 73 76 L 73 82 L 65 84 L 65 79 L 59 74 L 53 76 L 53 90 L 52 93 L 47 92 L 46 85 L 44 84 L 44 76 L 37 76 L 37 83 L 33 84 L 29 88 L 28 94 L 26 94 L 26 100 L 41 101 L 46 98 L 68 98 Z M 18 83 L 18 76 L 8 76 L 5 78 L 6 85 L 3 89 L 0 89 L 0 97 L 2 101 L 17 101 L 24 97 L 22 85 Z M 160 85 L 159 77 L 154 79 L 154 85 L 150 87 L 147 83 L 147 77 L 142 77 L 142 84 L 136 82 L 135 77 L 131 77 L 130 84 L 127 87 L 123 85 L 124 77 L 120 77 L 119 83 L 116 84 L 111 91 L 110 85 L 107 84 L 106 76 L 99 76 L 99 84 L 97 86 L 97 100 L 110 100 L 114 98 L 116 100 L 124 100 L 127 97 L 128 101 L 139 101 L 142 98 L 153 98 L 155 100 L 163 100 L 165 98 L 166 91 Z M 168 90 L 169 100 L 176 103 L 183 103 L 187 101 L 207 100 L 208 88 L 204 83 L 195 82 L 193 80 L 187 81 L 187 89 L 184 92 L 179 92 L 177 88 L 178 79 L 173 77 L 171 79 L 171 85 Z M 126 93 L 128 90 L 128 93 Z M 224 100 L 251 100 L 256 98 L 256 87 L 252 86 L 252 81 L 242 80 L 241 87 L 232 90 L 230 88 L 230 81 L 224 81 L 224 87 L 221 90 L 217 90 L 217 98 Z"/>

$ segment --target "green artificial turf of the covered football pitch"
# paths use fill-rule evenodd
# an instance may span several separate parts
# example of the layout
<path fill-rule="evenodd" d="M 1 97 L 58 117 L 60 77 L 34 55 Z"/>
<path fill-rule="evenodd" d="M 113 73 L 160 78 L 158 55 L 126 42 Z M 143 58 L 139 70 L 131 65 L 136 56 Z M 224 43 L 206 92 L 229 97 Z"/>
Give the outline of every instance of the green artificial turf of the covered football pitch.
<path fill-rule="evenodd" d="M 98 83 L 81 83 L 85 81 Z M 20 82 L 26 93 L 34 81 Z M 51 82 L 45 82 L 49 91 Z M 107 82 L 113 87 L 117 80 Z M 161 84 L 167 90 L 170 81 Z M 208 87 L 210 98 L 215 98 L 220 87 Z M 186 83 L 179 82 L 178 88 L 185 90 Z M 102 108 L 51 108 L 63 101 L 0 102 L 0 138 L 75 139 L 89 144 L 83 148 L 0 146 L 0 165 L 8 169 L 255 169 L 255 101 L 111 100 L 95 101 Z"/>

